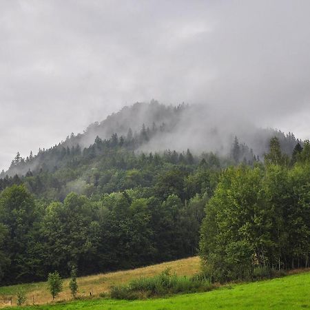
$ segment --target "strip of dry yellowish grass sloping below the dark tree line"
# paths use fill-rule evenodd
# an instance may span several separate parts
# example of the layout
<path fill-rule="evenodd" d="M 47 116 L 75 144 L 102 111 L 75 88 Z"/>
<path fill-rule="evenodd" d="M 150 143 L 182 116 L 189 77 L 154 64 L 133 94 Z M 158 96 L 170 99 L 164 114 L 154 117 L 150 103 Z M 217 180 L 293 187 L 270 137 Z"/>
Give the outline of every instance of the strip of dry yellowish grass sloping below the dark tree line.
<path fill-rule="evenodd" d="M 112 285 L 126 283 L 134 278 L 152 277 L 158 273 L 161 273 L 168 267 L 171 268 L 171 271 L 175 272 L 178 276 L 192 276 L 200 269 L 200 258 L 185 258 L 182 260 L 163 262 L 162 264 L 127 271 L 100 273 L 94 276 L 81 277 L 77 279 L 79 285 L 78 295 L 90 296 L 90 292 L 92 292 L 93 296 L 99 296 L 99 293 L 109 291 Z M 63 281 L 63 291 L 59 294 L 56 300 L 70 300 L 69 281 L 70 279 L 65 279 Z M 45 282 L 39 282 L 36 285 L 32 284 L 29 285 L 29 287 L 27 287 L 27 285 L 23 287 L 25 288 L 25 291 L 28 292 L 28 300 L 26 304 L 32 304 L 33 299 L 35 304 L 46 304 L 51 301 L 51 296 L 47 290 L 47 284 Z M 10 288 L 12 288 L 12 295 L 8 295 L 6 293 L 6 296 L 1 296 L 0 294 L 0 300 L 10 298 L 10 296 L 12 296 L 12 304 L 16 305 L 16 296 L 13 295 L 13 292 L 16 291 L 17 288 L 16 286 L 12 286 Z M 0 307 L 3 306 L 4 305 L 0 304 Z"/>

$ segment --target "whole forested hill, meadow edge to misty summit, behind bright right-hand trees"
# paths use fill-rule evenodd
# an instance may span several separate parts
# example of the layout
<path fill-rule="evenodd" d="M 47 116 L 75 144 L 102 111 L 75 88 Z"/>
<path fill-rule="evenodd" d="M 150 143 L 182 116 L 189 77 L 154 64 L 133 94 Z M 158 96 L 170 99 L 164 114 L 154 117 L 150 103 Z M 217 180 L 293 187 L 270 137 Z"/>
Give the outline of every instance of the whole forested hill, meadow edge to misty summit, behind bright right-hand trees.
<path fill-rule="evenodd" d="M 213 134 L 221 145 L 225 138 L 218 135 L 220 130 L 204 138 L 201 132 L 193 132 L 189 124 L 203 124 L 190 121 L 193 111 L 187 105 L 137 104 L 110 116 L 113 122 L 107 118 L 37 155 L 24 159 L 17 154 L 8 172 L 11 176 L 3 173 L 0 178 L 0 284 L 43 280 L 55 270 L 68 276 L 72 266 L 83 275 L 193 256 L 198 253 L 205 206 L 218 191 L 221 175 L 233 169 L 227 167 L 240 165 L 240 171 L 253 169 L 263 176 L 264 165 L 289 171 L 309 161 L 309 141 L 300 144 L 292 134 L 270 130 L 253 136 L 253 141 L 262 138 L 269 145 L 264 158 L 236 136 L 231 137 L 226 153 L 169 147 L 151 152 L 158 146 L 158 137 L 166 142 L 167 137 L 182 140 L 183 145 L 200 140 L 208 151 Z M 121 129 L 116 119 L 129 114 L 136 115 L 136 122 L 123 125 L 132 124 L 134 129 Z M 105 137 L 116 130 L 105 132 L 110 122 L 120 132 Z M 268 141 L 267 132 L 278 138 Z M 91 136 L 94 141 L 83 147 L 82 141 Z M 309 223 L 307 216 L 305 221 Z M 209 252 L 204 255 L 209 260 Z"/>

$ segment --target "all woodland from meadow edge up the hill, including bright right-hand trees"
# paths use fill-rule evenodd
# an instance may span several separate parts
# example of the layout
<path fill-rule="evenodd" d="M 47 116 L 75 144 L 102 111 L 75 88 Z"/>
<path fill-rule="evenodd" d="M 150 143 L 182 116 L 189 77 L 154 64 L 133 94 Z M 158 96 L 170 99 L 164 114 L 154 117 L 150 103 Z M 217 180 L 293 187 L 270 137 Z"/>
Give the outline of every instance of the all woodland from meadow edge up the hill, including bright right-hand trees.
<path fill-rule="evenodd" d="M 18 153 L 1 173 L 2 284 L 68 276 L 73 265 L 83 275 L 198 253 L 220 281 L 309 265 L 308 141 L 271 131 L 265 154 L 237 136 L 227 154 L 146 152 L 188 109 L 148 106 L 140 127 L 117 125 L 114 115 L 113 126 L 107 118 L 36 155 Z"/>

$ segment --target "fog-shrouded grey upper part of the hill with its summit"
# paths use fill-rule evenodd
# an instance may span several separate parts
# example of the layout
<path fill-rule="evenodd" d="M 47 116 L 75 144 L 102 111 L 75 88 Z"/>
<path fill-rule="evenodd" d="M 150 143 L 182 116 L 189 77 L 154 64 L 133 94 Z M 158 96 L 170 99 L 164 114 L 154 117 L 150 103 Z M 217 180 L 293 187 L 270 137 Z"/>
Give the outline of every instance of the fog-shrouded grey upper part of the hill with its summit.
<path fill-rule="evenodd" d="M 76 165 L 80 156 L 86 163 L 90 158 L 103 155 L 98 152 L 100 143 L 104 147 L 118 145 L 145 154 L 167 150 L 182 153 L 187 149 L 196 156 L 203 152 L 213 152 L 221 157 L 233 157 L 234 161 L 239 162 L 252 161 L 254 156 L 262 158 L 273 136 L 278 137 L 282 151 L 289 155 L 296 143 L 300 142 L 291 133 L 257 129 L 252 125 L 247 125 L 247 130 L 241 126 L 243 129 L 240 132 L 240 123 L 231 124 L 228 128 L 225 124 L 223 130 L 223 124 L 211 119 L 206 107 L 199 105 L 183 103 L 174 107 L 154 100 L 150 103 L 135 103 L 107 116 L 101 123 L 92 123 L 82 134 L 72 133 L 65 141 L 50 149 L 40 148 L 36 155 L 30 152 L 29 156 L 23 158 L 17 152 L 10 168 L 7 172 L 2 171 L 0 178 L 15 174 L 34 175 L 42 170 L 55 172 Z M 234 147 L 237 147 L 235 151 L 232 150 Z"/>

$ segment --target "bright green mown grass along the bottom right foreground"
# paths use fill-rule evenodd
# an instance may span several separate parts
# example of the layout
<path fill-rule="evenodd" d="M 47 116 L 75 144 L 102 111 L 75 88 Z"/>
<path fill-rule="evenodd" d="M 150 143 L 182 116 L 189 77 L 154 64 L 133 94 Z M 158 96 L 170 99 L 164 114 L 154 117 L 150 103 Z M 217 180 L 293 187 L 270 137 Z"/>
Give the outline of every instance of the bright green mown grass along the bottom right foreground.
<path fill-rule="evenodd" d="M 149 300 L 78 300 L 22 309 L 200 310 L 200 309 L 307 309 L 310 308 L 310 273 L 222 287 L 207 293 Z M 8 308 L 21 309 L 21 307 Z"/>

